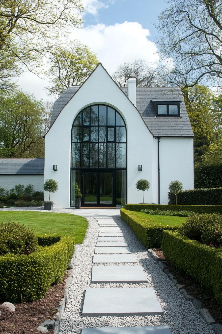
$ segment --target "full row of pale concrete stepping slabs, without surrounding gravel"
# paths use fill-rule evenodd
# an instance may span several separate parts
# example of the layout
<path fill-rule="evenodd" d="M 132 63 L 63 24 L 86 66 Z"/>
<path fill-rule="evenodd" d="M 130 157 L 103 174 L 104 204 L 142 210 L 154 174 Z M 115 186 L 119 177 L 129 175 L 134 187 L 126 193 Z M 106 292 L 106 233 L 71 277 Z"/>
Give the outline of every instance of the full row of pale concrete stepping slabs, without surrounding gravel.
<path fill-rule="evenodd" d="M 99 224 L 99 236 L 93 256 L 91 283 L 127 283 L 127 288 L 87 288 L 82 315 L 100 316 L 154 316 L 163 315 L 163 310 L 152 288 L 133 288 L 132 284 L 146 283 L 142 267 L 131 254 L 124 235 L 112 217 L 95 217 Z M 121 238 L 119 240 L 118 238 Z M 126 265 L 126 264 L 133 265 Z M 137 265 L 135 265 L 137 264 Z M 82 334 L 170 334 L 168 326 L 98 327 L 83 328 Z"/>

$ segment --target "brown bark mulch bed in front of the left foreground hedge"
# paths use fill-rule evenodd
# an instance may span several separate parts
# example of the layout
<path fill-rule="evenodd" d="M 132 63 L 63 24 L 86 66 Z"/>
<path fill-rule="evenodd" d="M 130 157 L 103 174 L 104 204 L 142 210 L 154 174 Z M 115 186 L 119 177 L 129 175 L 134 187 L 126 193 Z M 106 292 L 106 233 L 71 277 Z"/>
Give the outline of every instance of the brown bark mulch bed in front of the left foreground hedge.
<path fill-rule="evenodd" d="M 2 311 L 0 315 L 0 333 L 4 334 L 39 334 L 37 327 L 45 320 L 54 320 L 53 316 L 58 312 L 56 307 L 64 296 L 66 273 L 63 281 L 52 286 L 45 297 L 33 302 L 14 304 L 15 312 Z M 4 301 L 0 301 L 2 304 Z M 49 330 L 49 333 L 54 333 Z"/>

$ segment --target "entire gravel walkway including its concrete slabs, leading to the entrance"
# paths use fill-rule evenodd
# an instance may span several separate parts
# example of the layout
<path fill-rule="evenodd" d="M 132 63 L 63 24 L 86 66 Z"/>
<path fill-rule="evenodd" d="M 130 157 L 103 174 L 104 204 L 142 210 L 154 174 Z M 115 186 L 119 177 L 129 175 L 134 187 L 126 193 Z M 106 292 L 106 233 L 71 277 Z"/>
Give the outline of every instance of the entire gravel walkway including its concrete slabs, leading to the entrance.
<path fill-rule="evenodd" d="M 88 220 L 60 334 L 214 333 L 118 215 Z"/>

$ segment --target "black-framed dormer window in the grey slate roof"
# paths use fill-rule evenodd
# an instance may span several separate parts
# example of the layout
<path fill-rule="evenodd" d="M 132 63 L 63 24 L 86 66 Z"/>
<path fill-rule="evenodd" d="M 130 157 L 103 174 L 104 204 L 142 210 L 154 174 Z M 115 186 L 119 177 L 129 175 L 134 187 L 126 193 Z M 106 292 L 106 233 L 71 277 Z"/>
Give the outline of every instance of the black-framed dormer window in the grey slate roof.
<path fill-rule="evenodd" d="M 155 103 L 157 117 L 179 117 L 180 102 L 179 101 L 152 101 Z"/>

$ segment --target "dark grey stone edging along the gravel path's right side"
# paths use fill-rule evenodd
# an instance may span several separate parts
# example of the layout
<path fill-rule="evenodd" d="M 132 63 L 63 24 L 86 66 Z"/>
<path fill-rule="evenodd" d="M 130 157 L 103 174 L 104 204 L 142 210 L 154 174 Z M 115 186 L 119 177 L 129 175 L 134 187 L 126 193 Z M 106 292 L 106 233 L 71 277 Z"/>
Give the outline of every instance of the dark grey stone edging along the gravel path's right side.
<path fill-rule="evenodd" d="M 186 293 L 186 290 L 183 289 L 184 285 L 179 284 L 177 280 L 174 279 L 174 276 L 169 272 L 165 262 L 161 261 L 161 259 L 156 255 L 156 253 L 151 248 L 148 249 L 148 252 L 150 253 L 153 260 L 159 265 L 162 272 L 164 272 L 168 276 L 170 281 L 172 281 L 173 285 L 181 293 L 181 295 L 186 300 L 193 303 L 193 305 L 196 307 L 202 318 L 205 320 L 206 324 L 212 325 L 213 330 L 216 334 L 222 334 L 222 325 L 216 323 L 216 321 L 210 315 L 209 311 L 204 308 L 202 302 L 199 299 L 195 299 L 193 296 L 190 296 Z"/>

